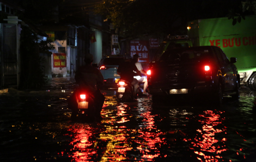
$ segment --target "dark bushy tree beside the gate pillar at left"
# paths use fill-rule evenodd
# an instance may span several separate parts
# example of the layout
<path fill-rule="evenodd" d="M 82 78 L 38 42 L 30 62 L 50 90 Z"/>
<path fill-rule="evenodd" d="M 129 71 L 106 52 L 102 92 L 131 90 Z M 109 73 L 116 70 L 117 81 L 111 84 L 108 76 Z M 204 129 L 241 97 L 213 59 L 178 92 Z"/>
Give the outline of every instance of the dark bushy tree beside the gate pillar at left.
<path fill-rule="evenodd" d="M 36 33 L 26 25 L 22 26 L 21 31 L 21 88 L 40 89 L 46 84 L 44 79 L 45 61 L 39 53 L 49 53 L 54 49 L 51 40 L 38 42 Z"/>

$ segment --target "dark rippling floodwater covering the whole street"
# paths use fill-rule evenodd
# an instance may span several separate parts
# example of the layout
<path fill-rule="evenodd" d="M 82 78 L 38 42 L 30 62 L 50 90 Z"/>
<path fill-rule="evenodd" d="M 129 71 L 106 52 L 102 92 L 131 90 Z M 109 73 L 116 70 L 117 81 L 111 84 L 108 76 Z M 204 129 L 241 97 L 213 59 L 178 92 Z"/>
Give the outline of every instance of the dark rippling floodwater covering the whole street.
<path fill-rule="evenodd" d="M 256 161 L 255 92 L 220 108 L 106 100 L 101 122 L 70 121 L 74 79 L 0 94 L 0 161 Z"/>

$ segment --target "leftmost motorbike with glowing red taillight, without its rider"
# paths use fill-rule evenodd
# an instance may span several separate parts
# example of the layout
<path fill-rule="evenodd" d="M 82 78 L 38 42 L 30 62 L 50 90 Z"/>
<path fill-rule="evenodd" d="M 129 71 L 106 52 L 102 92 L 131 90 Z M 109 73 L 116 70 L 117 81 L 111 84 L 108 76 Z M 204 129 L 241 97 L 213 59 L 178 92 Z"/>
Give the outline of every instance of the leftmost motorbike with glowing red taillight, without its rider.
<path fill-rule="evenodd" d="M 86 121 L 95 120 L 94 96 L 86 89 L 76 88 L 74 94 L 69 99 L 68 107 L 72 109 L 71 120 L 76 118 Z"/>

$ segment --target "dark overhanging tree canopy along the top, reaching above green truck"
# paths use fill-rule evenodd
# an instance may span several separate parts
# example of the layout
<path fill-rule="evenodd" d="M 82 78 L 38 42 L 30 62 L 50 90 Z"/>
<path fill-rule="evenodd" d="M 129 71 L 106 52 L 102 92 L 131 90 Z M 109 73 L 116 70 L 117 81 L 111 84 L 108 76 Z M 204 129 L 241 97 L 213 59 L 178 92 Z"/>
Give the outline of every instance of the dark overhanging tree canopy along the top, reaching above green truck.
<path fill-rule="evenodd" d="M 107 18 L 123 37 L 182 34 L 188 21 L 202 18 L 229 17 L 235 24 L 249 10 L 255 11 L 255 0 L 103 0 L 95 7 L 95 13 Z"/>

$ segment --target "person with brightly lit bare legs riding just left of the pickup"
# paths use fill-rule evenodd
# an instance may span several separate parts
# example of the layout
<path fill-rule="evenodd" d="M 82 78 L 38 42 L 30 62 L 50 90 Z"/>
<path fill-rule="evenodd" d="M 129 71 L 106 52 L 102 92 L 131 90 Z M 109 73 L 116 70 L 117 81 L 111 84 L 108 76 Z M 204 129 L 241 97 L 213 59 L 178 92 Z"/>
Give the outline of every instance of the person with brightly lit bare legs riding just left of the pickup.
<path fill-rule="evenodd" d="M 143 70 L 143 68 L 142 68 L 141 62 L 138 62 L 138 61 L 139 61 L 139 55 L 138 54 L 133 55 L 133 59 L 132 59 L 131 62 L 135 63 L 135 66 L 138 68 L 139 72 L 141 72 L 144 75 L 147 75 L 145 70 Z M 139 83 L 144 83 L 143 95 L 149 95 L 146 92 L 147 87 L 148 87 L 148 80 L 147 80 L 147 78 L 141 77 L 141 76 L 134 76 L 134 77 L 138 80 Z"/>

